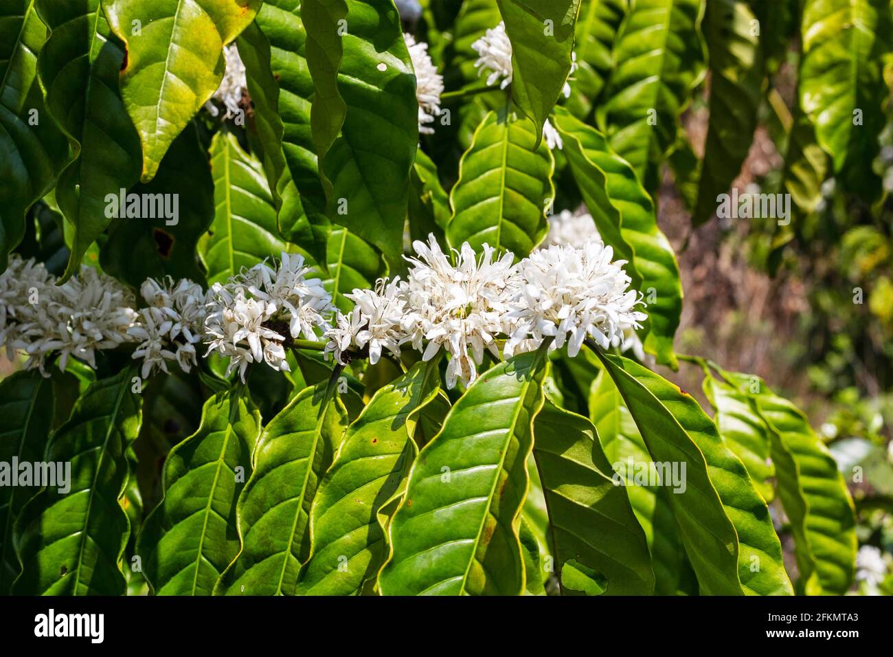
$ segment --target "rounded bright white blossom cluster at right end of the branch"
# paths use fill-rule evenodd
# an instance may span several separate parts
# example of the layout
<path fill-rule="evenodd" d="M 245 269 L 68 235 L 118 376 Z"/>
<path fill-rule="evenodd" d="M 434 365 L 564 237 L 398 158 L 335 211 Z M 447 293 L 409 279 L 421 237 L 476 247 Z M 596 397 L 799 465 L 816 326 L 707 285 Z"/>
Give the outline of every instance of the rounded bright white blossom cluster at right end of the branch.
<path fill-rule="evenodd" d="M 626 344 L 625 332 L 647 319 L 635 307 L 640 295 L 629 290 L 624 261 L 611 262 L 613 249 L 589 241 L 582 248 L 551 246 L 534 251 L 518 265 L 521 282 L 514 286 L 510 304 L 512 334 L 505 345 L 506 358 L 547 337 L 554 349 L 568 342 L 568 355 L 576 356 L 587 336 L 602 349 Z"/>

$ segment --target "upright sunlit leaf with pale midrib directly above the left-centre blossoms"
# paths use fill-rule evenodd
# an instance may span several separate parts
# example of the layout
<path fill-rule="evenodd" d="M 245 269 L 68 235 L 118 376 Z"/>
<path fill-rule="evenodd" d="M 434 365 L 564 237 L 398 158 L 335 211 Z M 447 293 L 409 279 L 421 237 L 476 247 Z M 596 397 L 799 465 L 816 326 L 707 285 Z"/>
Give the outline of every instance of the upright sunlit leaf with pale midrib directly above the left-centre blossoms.
<path fill-rule="evenodd" d="M 226 281 L 242 267 L 294 251 L 282 240 L 276 208 L 261 164 L 238 145 L 231 132 L 218 132 L 211 144 L 214 220 L 198 242 L 208 284 Z"/>

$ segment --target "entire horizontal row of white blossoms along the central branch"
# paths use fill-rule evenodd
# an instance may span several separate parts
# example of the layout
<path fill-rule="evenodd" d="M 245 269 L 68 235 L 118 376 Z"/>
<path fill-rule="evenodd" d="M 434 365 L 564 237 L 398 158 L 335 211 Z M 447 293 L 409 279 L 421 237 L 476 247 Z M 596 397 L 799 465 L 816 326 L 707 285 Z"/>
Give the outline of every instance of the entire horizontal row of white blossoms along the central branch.
<path fill-rule="evenodd" d="M 549 340 L 549 349 L 567 342 L 574 355 L 587 336 L 604 348 L 628 346 L 646 318 L 623 262 L 612 262 L 612 249 L 598 240 L 552 244 L 517 263 L 486 244 L 480 255 L 468 243 L 445 253 L 433 235 L 413 249 L 405 281 L 381 279 L 373 290 L 345 295 L 354 302 L 346 314 L 296 254 L 207 293 L 187 279 L 148 279 L 138 308 L 129 289 L 95 269 L 82 267 L 56 286 L 43 265 L 13 255 L 0 274 L 0 343 L 41 371 L 50 355 L 63 367 L 71 356 L 96 366 L 96 351 L 129 343 L 146 377 L 168 372 L 170 363 L 188 372 L 204 342 L 204 356 L 229 358 L 228 375 L 238 370 L 243 382 L 251 363 L 288 371 L 287 350 L 300 338 L 324 336 L 324 351 L 341 365 L 374 364 L 386 351 L 399 357 L 408 344 L 425 361 L 446 352 L 452 388 L 475 380 L 485 351 L 509 358 Z"/>

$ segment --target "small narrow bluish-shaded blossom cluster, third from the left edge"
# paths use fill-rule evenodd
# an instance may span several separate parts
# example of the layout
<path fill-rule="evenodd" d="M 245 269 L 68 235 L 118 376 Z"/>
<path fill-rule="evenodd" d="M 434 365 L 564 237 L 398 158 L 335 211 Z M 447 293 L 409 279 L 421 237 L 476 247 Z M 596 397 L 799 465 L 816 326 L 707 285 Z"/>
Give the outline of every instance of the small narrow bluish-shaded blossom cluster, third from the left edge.
<path fill-rule="evenodd" d="M 188 372 L 196 365 L 196 343 L 204 331 L 205 295 L 200 285 L 181 279 L 176 285 L 170 277 L 162 282 L 146 279 L 140 293 L 148 307 L 138 313 L 129 334 L 140 341 L 133 358 L 143 359 L 141 376 L 154 369 L 169 372 L 165 361 L 176 361 Z"/>

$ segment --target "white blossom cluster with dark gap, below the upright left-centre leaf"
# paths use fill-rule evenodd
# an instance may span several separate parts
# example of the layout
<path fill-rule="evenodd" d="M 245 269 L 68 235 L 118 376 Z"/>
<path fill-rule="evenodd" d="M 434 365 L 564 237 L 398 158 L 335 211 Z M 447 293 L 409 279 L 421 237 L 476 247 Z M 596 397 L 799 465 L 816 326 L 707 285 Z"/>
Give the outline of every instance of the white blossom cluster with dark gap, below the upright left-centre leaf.
<path fill-rule="evenodd" d="M 304 257 L 282 253 L 276 269 L 266 262 L 216 282 L 208 291 L 204 322 L 208 353 L 230 358 L 227 375 L 238 368 L 245 381 L 250 363 L 265 362 L 288 372 L 286 347 L 304 336 L 316 340 L 329 324 L 323 314 L 334 309 L 317 278 L 306 277 Z"/>

